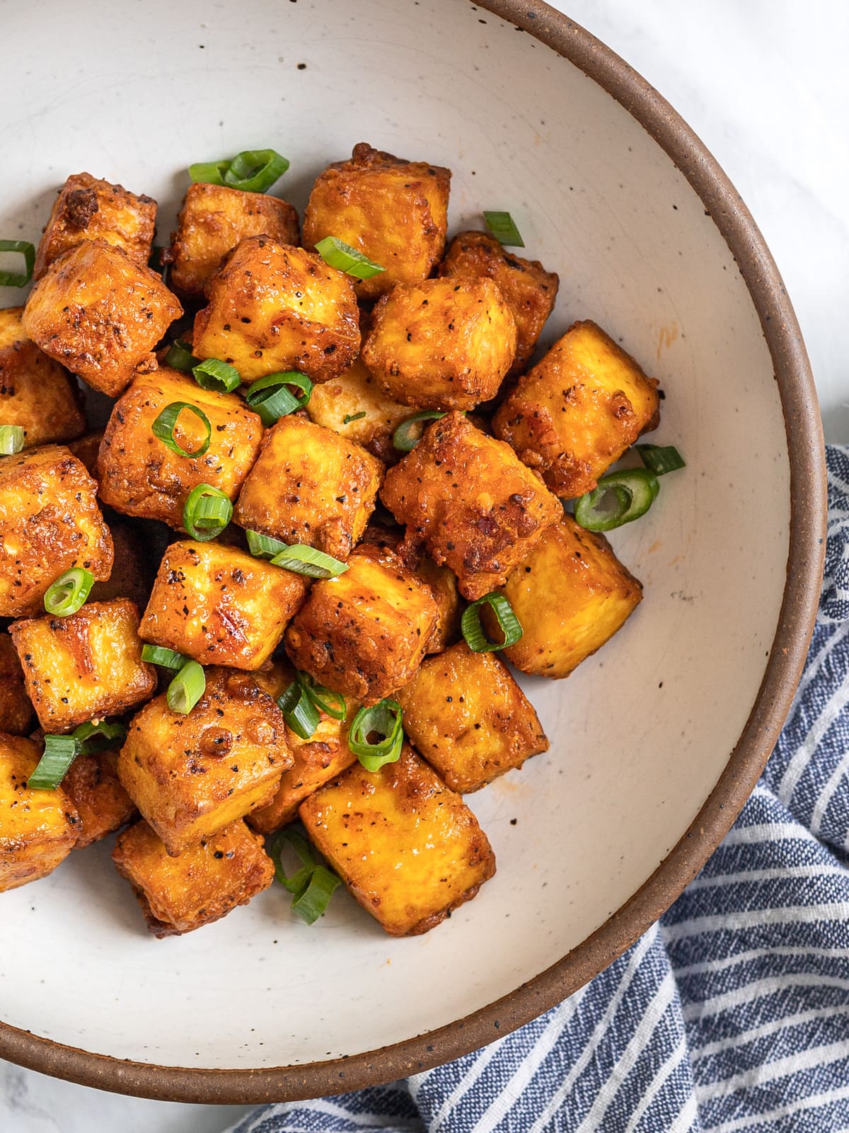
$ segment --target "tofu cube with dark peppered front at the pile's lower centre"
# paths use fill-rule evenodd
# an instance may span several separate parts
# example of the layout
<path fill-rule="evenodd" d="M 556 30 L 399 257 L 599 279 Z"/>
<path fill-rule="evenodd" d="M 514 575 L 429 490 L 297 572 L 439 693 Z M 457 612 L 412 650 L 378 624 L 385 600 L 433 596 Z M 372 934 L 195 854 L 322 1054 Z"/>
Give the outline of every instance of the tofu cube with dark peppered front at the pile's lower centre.
<path fill-rule="evenodd" d="M 397 555 L 366 545 L 344 574 L 312 587 L 286 630 L 286 653 L 319 684 L 374 705 L 413 675 L 437 616 L 430 588 Z"/>

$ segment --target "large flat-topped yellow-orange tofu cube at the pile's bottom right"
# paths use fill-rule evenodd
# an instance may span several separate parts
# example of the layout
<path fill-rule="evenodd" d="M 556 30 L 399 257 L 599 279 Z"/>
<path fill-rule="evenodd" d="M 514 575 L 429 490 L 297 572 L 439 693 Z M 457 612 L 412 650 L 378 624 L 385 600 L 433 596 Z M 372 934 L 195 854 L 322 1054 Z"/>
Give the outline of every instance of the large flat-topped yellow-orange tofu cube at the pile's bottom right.
<path fill-rule="evenodd" d="M 389 936 L 435 928 L 495 874 L 478 819 L 408 744 L 379 772 L 354 764 L 306 799 L 300 817 Z"/>

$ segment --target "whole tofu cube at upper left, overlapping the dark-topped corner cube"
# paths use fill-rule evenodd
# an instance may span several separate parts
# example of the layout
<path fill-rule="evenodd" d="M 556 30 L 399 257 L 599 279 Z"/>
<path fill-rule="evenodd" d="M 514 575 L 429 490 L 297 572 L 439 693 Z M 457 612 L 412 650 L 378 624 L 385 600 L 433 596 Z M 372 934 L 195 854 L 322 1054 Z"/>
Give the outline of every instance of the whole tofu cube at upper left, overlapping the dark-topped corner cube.
<path fill-rule="evenodd" d="M 182 307 L 156 272 L 105 240 L 55 259 L 29 292 L 24 330 L 88 385 L 117 398 L 156 368 L 153 348 Z"/>

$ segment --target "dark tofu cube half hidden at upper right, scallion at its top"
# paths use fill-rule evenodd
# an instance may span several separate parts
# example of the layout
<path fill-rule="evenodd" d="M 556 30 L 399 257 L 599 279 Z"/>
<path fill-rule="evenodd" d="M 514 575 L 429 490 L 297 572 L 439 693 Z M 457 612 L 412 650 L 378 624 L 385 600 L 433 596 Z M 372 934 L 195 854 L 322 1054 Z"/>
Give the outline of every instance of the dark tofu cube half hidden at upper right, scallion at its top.
<path fill-rule="evenodd" d="M 508 376 L 521 374 L 554 310 L 559 279 L 539 259 L 516 256 L 486 232 L 461 232 L 451 241 L 439 274 L 456 282 L 488 276 L 498 284 L 516 323 L 516 355 Z"/>

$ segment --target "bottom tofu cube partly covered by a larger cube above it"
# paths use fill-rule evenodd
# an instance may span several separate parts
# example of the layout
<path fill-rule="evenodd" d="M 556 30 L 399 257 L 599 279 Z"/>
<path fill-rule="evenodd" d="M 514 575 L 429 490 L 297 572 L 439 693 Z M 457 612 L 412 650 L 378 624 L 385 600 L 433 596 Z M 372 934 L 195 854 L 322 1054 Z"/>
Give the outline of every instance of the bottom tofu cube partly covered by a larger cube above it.
<path fill-rule="evenodd" d="M 267 889 L 274 864 L 263 838 L 239 819 L 170 857 L 147 823 L 118 836 L 112 851 L 118 872 L 136 892 L 147 928 L 162 939 L 191 932 Z"/>

